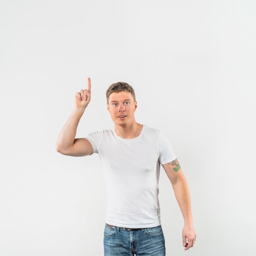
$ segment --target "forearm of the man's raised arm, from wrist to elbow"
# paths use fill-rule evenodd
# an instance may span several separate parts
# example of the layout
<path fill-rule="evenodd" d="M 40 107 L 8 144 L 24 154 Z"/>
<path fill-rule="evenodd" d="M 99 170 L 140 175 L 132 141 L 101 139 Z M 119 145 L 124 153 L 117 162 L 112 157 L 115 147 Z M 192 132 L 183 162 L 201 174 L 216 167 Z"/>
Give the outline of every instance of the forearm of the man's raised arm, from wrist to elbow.
<path fill-rule="evenodd" d="M 74 108 L 58 136 L 56 142 L 56 150 L 58 152 L 61 153 L 73 146 L 76 137 L 76 130 L 84 111 L 85 108 Z"/>

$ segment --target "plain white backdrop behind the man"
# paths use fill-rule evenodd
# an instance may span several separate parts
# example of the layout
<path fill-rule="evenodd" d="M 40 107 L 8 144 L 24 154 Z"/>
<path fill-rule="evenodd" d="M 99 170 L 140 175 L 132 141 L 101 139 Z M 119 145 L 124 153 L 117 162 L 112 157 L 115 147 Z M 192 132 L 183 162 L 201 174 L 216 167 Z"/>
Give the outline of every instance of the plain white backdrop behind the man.
<path fill-rule="evenodd" d="M 113 126 L 105 92 L 135 89 L 189 183 L 195 246 L 160 175 L 167 256 L 255 255 L 256 2 L 0 0 L 0 255 L 102 256 L 99 157 L 55 142 L 92 80 L 77 136 Z"/>

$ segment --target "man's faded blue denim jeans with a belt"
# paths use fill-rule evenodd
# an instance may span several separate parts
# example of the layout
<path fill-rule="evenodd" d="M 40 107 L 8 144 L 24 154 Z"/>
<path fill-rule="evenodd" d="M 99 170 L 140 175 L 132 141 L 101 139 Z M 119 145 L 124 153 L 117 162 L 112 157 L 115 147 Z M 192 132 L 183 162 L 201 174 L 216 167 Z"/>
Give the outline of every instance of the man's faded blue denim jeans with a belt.
<path fill-rule="evenodd" d="M 105 226 L 104 256 L 165 256 L 161 225 L 137 230 Z"/>

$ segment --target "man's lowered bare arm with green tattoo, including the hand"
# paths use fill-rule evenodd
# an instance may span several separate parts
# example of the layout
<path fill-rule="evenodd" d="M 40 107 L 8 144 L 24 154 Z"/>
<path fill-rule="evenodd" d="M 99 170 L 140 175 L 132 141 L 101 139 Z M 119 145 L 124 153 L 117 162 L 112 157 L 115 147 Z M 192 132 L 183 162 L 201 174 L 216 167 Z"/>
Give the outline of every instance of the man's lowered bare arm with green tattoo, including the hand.
<path fill-rule="evenodd" d="M 186 178 L 182 173 L 180 164 L 177 160 L 173 160 L 168 164 L 163 164 L 164 170 L 171 181 L 175 197 L 180 206 L 184 218 L 184 228 L 182 230 L 183 246 L 185 250 L 194 246 L 195 243 L 195 229 L 193 226 L 193 218 L 191 212 L 191 200 L 189 194 L 189 187 Z"/>

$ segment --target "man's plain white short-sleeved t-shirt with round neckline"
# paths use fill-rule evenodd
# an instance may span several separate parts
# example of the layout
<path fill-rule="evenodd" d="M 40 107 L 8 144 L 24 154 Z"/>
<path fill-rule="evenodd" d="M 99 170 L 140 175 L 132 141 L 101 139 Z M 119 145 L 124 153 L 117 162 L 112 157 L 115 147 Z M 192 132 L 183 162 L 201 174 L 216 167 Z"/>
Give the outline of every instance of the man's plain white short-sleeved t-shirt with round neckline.
<path fill-rule="evenodd" d="M 101 159 L 107 189 L 106 223 L 116 227 L 146 228 L 161 224 L 158 200 L 160 164 L 176 156 L 160 130 L 143 126 L 134 139 L 112 130 L 87 137 Z"/>

